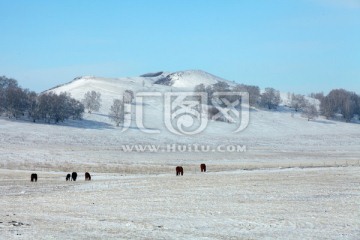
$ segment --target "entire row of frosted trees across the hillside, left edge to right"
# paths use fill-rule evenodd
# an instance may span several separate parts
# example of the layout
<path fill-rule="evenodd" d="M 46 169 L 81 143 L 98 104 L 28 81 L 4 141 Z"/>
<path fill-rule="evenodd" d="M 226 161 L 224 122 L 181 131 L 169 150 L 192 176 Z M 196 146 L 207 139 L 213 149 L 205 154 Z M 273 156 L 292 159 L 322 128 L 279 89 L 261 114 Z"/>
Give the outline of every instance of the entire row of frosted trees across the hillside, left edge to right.
<path fill-rule="evenodd" d="M 265 88 L 261 93 L 260 88 L 254 85 L 237 84 L 231 87 L 226 82 L 217 82 L 208 86 L 197 85 L 194 91 L 207 93 L 210 118 L 219 113 L 213 100 L 216 92 L 247 92 L 250 106 L 269 110 L 276 109 L 281 103 L 278 90 Z M 236 98 L 241 101 L 241 97 L 231 94 L 224 97 L 229 102 L 236 101 Z M 288 94 L 287 106 L 295 112 L 301 112 L 308 120 L 318 117 L 319 114 L 327 119 L 341 117 L 346 122 L 350 122 L 355 116 L 360 119 L 360 96 L 355 92 L 334 89 L 326 96 L 323 93 L 311 93 L 309 97 L 320 102 L 319 109 L 314 101 L 310 102 L 304 95 L 294 93 Z M 126 90 L 122 99 L 114 99 L 109 118 L 115 122 L 116 126 L 124 121 L 124 104 L 131 103 L 133 99 L 134 93 L 131 90 Z M 78 101 L 68 93 L 37 94 L 20 87 L 15 79 L 0 76 L 0 116 L 29 119 L 33 122 L 58 123 L 70 118 L 81 119 L 85 109 L 91 113 L 98 111 L 100 106 L 101 94 L 99 92 L 89 91 L 85 93 L 82 101 Z"/>

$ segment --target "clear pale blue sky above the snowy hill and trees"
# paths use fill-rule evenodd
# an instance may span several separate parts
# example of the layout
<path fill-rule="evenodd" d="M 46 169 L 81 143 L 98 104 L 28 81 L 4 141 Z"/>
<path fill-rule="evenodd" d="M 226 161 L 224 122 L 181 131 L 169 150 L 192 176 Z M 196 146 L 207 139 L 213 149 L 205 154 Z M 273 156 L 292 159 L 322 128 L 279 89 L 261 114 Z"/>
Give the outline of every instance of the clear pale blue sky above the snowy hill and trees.
<path fill-rule="evenodd" d="M 201 69 L 307 94 L 360 94 L 360 0 L 0 0 L 0 75 L 43 91 L 77 76 Z"/>

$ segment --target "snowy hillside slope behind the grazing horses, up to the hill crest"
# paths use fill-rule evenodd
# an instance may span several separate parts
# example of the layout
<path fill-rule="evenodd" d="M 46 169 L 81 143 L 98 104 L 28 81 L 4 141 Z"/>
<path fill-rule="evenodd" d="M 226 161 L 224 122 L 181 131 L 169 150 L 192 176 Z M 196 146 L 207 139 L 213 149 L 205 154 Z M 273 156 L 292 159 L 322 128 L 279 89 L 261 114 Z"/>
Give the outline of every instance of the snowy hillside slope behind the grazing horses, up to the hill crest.
<path fill-rule="evenodd" d="M 236 124 L 209 121 L 204 132 L 179 136 L 169 131 L 165 124 L 164 98 L 146 97 L 141 121 L 143 126 L 136 123 L 135 111 L 140 103 L 134 102 L 131 105 L 132 121 L 129 128 L 122 131 L 114 127 L 108 118 L 109 109 L 113 99 L 122 98 L 125 90 L 160 93 L 186 91 L 186 88 L 154 84 L 166 75 L 169 73 L 131 78 L 82 77 L 52 89 L 57 93 L 69 92 L 79 100 L 87 91 L 99 91 L 102 94 L 102 107 L 99 112 L 85 113 L 82 121 L 69 120 L 56 125 L 0 119 L 0 152 L 6 159 L 3 166 L 31 169 L 33 165 L 29 164 L 35 162 L 36 166 L 51 166 L 51 169 L 65 171 L 71 162 L 103 172 L 122 171 L 117 168 L 144 171 L 143 168 L 139 170 L 138 165 L 145 166 L 145 169 L 149 167 L 152 172 L 167 172 L 168 166 L 187 166 L 201 161 L 212 164 L 213 171 L 254 166 L 336 166 L 339 163 L 358 162 L 359 124 L 323 118 L 307 121 L 284 106 L 278 111 L 251 109 L 249 125 L 239 133 L 233 133 Z M 211 81 L 208 79 L 205 83 Z M 158 132 L 150 134 L 145 130 Z M 195 144 L 210 146 L 211 150 L 167 151 L 169 146 Z M 125 152 L 124 145 L 154 145 L 160 150 Z M 246 151 L 223 152 L 216 149 L 219 146 L 245 146 Z"/>

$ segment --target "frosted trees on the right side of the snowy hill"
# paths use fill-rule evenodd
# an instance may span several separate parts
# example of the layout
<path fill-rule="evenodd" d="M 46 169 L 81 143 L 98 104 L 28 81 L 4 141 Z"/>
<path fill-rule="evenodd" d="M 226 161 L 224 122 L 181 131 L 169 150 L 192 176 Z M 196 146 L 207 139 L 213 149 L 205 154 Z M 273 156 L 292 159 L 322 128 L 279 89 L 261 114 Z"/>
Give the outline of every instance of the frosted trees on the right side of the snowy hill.
<path fill-rule="evenodd" d="M 261 93 L 258 86 L 237 84 L 230 87 L 226 82 L 218 82 L 212 85 L 205 86 L 199 84 L 194 88 L 195 92 L 205 92 L 208 95 L 209 117 L 216 115 L 218 110 L 211 102 L 215 92 L 248 92 L 249 104 L 252 107 L 265 108 L 268 110 L 277 109 L 281 103 L 280 92 L 274 88 L 265 88 Z M 360 119 L 360 96 L 355 92 L 350 92 L 344 89 L 334 89 L 324 96 L 323 93 L 312 93 L 309 97 L 317 99 L 320 102 L 319 108 L 317 103 L 310 98 L 306 98 L 301 94 L 288 94 L 287 106 L 295 112 L 301 112 L 302 116 L 308 120 L 317 118 L 319 114 L 325 116 L 327 119 L 332 119 L 340 116 L 346 122 L 358 116 Z M 233 101 L 231 97 L 226 97 L 229 101 Z"/>

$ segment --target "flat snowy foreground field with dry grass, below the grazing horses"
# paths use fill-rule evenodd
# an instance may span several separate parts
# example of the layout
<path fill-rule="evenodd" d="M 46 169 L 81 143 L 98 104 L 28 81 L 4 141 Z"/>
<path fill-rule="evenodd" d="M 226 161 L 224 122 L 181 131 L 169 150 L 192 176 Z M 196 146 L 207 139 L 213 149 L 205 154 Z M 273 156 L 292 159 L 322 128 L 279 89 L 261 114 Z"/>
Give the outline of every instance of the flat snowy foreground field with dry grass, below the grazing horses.
<path fill-rule="evenodd" d="M 359 239 L 359 167 L 171 174 L 1 170 L 1 239 Z"/>

